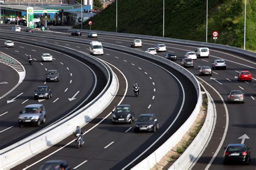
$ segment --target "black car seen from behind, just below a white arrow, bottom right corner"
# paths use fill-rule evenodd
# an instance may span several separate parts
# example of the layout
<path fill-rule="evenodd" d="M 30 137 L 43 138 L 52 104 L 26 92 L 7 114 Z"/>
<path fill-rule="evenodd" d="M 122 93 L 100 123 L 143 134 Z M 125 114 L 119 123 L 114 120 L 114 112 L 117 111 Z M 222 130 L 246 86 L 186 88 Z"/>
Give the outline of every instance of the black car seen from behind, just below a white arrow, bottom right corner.
<path fill-rule="evenodd" d="M 243 162 L 246 165 L 250 163 L 251 151 L 245 144 L 228 144 L 225 149 L 224 164 L 231 161 Z"/>

